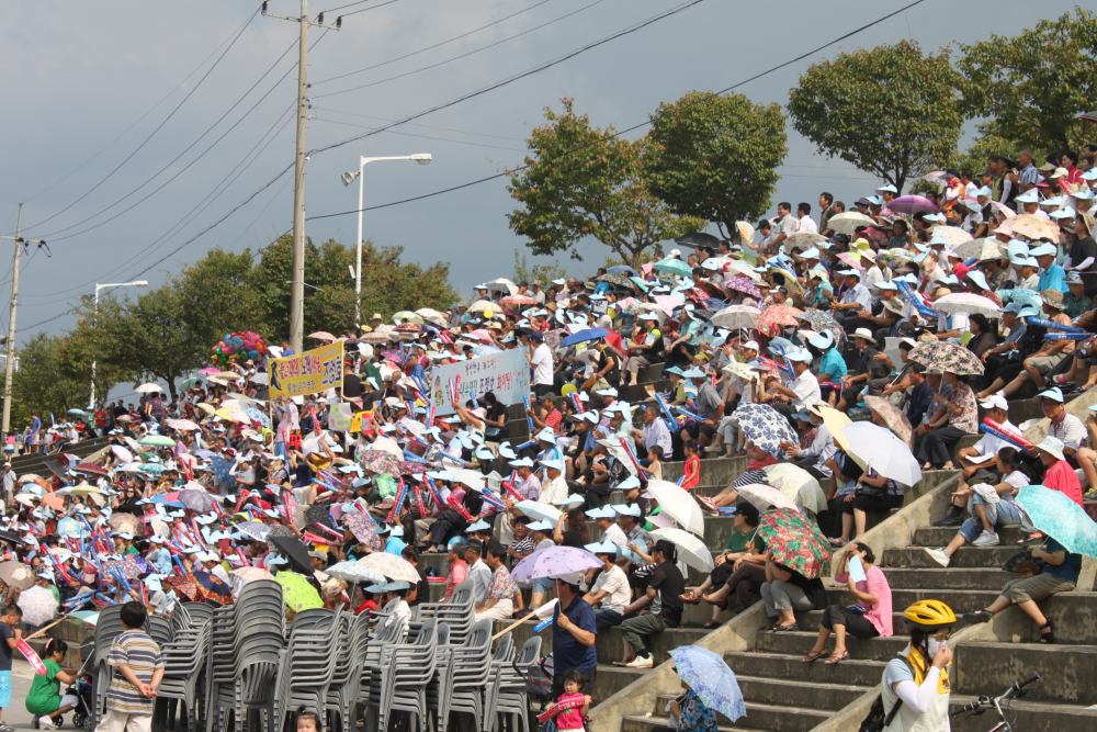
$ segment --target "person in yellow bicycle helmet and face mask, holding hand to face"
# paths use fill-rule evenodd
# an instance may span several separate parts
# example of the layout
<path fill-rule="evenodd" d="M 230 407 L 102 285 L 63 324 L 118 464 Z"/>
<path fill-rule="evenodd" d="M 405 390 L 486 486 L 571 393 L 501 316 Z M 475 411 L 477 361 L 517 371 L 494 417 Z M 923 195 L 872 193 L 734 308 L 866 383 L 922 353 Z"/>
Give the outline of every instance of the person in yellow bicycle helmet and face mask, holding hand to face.
<path fill-rule="evenodd" d="M 911 644 L 884 668 L 881 698 L 891 723 L 883 732 L 949 732 L 948 639 L 955 622 L 940 600 L 920 600 L 903 612 Z"/>

